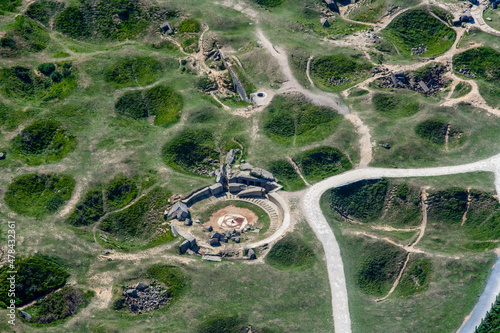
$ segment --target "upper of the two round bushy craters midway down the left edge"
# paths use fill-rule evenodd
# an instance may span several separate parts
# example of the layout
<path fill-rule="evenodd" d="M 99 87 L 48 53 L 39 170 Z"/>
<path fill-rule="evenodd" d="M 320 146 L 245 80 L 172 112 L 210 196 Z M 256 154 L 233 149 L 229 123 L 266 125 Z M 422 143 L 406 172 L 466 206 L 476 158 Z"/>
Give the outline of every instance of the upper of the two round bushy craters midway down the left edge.
<path fill-rule="evenodd" d="M 62 159 L 75 148 L 76 140 L 60 122 L 38 120 L 23 129 L 12 140 L 12 145 L 28 164 L 40 164 Z"/>

